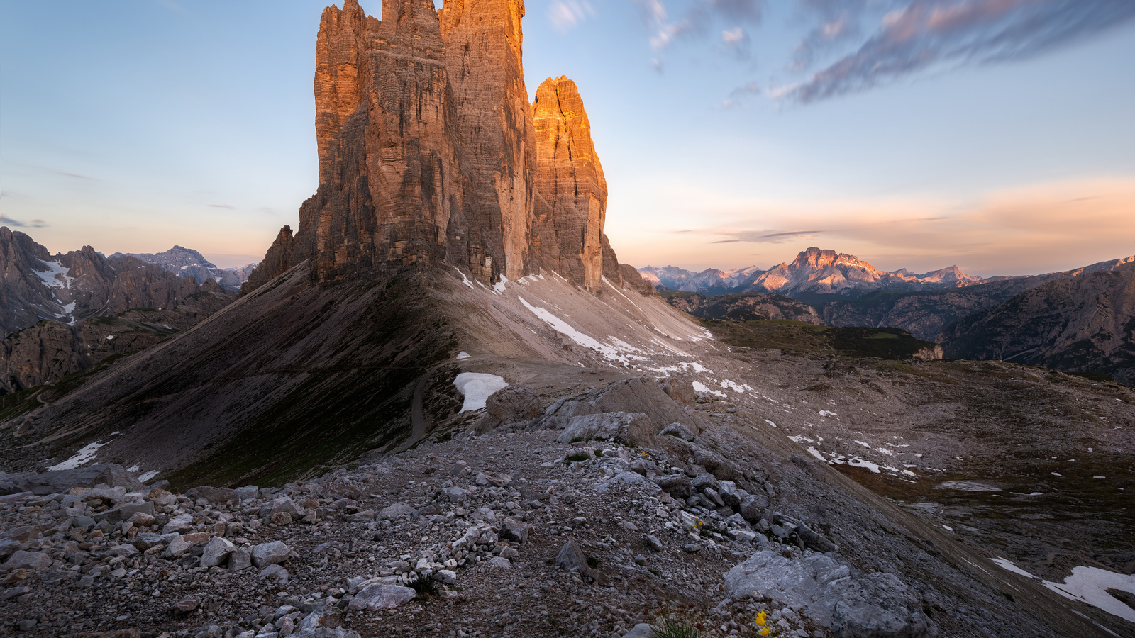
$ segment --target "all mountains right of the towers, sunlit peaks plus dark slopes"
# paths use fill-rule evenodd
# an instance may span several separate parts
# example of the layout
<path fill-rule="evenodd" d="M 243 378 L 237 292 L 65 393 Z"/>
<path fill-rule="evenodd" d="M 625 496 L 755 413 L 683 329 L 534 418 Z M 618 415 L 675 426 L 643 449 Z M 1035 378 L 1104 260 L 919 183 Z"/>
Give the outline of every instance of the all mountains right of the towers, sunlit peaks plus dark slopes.
<path fill-rule="evenodd" d="M 884 272 L 854 255 L 808 249 L 770 270 L 691 272 L 667 266 L 640 272 L 656 288 L 686 291 L 663 296 L 701 318 L 813 322 L 788 303 L 796 300 L 824 324 L 901 328 L 942 344 L 951 359 L 1102 372 L 1135 385 L 1135 257 L 983 279 L 957 267 Z"/>

